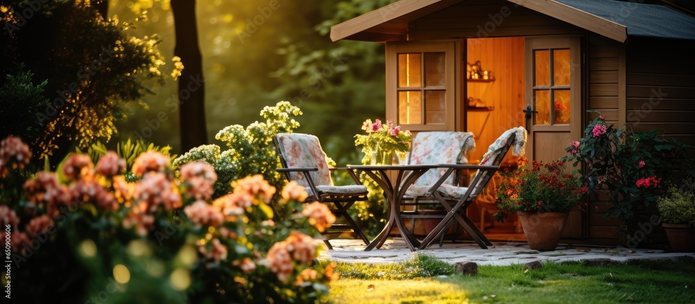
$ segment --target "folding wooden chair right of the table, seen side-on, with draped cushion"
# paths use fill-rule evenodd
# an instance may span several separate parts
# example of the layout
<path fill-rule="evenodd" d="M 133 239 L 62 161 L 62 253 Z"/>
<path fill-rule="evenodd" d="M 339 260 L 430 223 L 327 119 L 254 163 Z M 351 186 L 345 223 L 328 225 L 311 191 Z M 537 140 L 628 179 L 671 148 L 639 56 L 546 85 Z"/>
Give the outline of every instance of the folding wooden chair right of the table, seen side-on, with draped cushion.
<path fill-rule="evenodd" d="M 420 249 L 427 248 L 435 239 L 441 239 L 453 221 L 457 221 L 468 232 L 480 248 L 487 248 L 492 243 L 484 234 L 475 227 L 475 224 L 466 216 L 466 209 L 475 198 L 485 189 L 486 185 L 497 172 L 502 159 L 507 151 L 514 147 L 512 154 L 521 155 L 524 152 L 527 132 L 523 127 L 516 127 L 505 131 L 484 154 L 480 165 L 443 165 L 446 172 L 424 193 L 425 198 L 435 198 L 448 212 L 442 221 L 421 242 Z M 477 173 L 468 187 L 455 186 L 445 183 L 454 170 L 477 169 Z M 441 241 L 440 241 L 441 243 Z"/>

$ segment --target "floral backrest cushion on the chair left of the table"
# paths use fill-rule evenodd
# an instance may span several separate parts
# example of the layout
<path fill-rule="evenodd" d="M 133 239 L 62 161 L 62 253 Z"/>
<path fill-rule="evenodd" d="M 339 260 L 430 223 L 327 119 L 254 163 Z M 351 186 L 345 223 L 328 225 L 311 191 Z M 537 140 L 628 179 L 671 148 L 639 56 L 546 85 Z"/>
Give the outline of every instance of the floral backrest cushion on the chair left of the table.
<path fill-rule="evenodd" d="M 277 134 L 280 152 L 284 155 L 287 168 L 318 168 L 309 173 L 316 186 L 333 186 L 326 163 L 326 154 L 321 149 L 318 137 L 301 133 Z M 308 187 L 304 173 L 290 173 L 290 180 Z"/>

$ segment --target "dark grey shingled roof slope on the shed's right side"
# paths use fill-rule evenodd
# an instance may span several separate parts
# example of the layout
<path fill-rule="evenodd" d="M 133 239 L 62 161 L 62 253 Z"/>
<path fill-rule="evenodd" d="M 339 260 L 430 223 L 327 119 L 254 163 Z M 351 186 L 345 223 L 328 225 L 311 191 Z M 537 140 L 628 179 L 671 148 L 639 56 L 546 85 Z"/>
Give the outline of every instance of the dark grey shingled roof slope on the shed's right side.
<path fill-rule="evenodd" d="M 555 0 L 628 28 L 628 36 L 695 40 L 695 17 L 666 6 L 615 0 Z"/>

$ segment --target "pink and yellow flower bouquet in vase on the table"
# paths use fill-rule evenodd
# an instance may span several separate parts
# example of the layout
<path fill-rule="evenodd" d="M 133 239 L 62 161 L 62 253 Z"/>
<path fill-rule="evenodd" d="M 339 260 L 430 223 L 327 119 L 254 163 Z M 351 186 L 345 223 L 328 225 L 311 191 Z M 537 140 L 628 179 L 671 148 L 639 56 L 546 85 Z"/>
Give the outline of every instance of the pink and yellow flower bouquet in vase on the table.
<path fill-rule="evenodd" d="M 392 163 L 407 163 L 407 154 L 413 136 L 410 131 L 403 131 L 400 126 L 394 126 L 391 120 L 382 123 L 381 120 L 365 120 L 362 130 L 366 134 L 355 135 L 354 144 L 362 147 L 364 157 L 362 163 L 371 165 L 390 165 Z M 394 157 L 398 160 L 394 161 Z"/>

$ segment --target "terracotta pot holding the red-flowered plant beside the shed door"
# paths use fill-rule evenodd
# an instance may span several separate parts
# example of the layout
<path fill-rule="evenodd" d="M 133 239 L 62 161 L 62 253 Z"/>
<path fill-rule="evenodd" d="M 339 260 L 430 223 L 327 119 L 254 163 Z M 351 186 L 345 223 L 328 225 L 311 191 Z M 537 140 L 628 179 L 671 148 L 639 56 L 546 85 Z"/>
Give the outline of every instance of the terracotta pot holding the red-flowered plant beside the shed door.
<path fill-rule="evenodd" d="M 569 212 L 518 212 L 528 246 L 539 251 L 552 251 L 562 235 Z"/>

